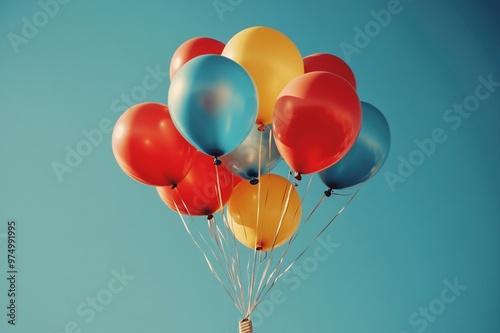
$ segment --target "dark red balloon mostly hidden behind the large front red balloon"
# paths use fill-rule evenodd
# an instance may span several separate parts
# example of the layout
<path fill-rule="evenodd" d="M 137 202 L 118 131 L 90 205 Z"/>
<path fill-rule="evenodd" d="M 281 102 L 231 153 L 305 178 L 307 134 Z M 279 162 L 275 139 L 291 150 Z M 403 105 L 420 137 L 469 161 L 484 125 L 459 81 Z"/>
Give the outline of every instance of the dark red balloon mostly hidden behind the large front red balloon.
<path fill-rule="evenodd" d="M 349 65 L 333 54 L 316 53 L 304 58 L 304 73 L 325 71 L 337 74 L 356 90 L 356 78 Z"/>

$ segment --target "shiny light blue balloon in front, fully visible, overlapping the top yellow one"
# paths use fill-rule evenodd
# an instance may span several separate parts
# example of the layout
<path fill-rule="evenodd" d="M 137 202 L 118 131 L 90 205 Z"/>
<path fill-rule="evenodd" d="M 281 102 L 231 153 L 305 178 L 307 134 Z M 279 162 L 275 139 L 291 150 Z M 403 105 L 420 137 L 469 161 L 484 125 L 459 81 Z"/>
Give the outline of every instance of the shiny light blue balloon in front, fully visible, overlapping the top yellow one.
<path fill-rule="evenodd" d="M 245 140 L 257 119 L 258 98 L 247 71 L 220 55 L 188 61 L 168 91 L 172 121 L 198 150 L 219 157 Z"/>

